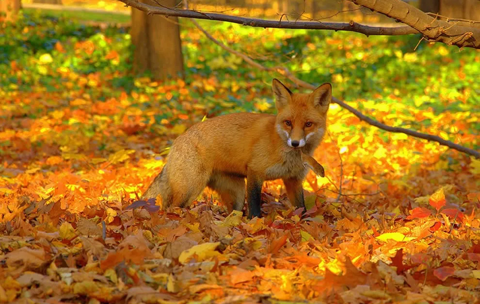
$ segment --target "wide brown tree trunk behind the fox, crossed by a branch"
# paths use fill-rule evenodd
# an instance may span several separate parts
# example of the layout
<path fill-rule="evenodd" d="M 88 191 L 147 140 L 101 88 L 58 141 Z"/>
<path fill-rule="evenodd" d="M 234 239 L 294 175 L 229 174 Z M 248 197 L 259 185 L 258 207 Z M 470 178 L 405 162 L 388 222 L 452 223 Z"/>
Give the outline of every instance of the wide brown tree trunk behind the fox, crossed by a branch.
<path fill-rule="evenodd" d="M 142 2 L 158 6 L 154 1 Z M 175 7 L 176 0 L 160 1 L 167 7 Z M 137 73 L 150 70 L 155 79 L 183 78 L 183 55 L 180 26 L 177 17 L 147 16 L 132 7 L 132 43 L 135 46 L 133 66 Z"/>

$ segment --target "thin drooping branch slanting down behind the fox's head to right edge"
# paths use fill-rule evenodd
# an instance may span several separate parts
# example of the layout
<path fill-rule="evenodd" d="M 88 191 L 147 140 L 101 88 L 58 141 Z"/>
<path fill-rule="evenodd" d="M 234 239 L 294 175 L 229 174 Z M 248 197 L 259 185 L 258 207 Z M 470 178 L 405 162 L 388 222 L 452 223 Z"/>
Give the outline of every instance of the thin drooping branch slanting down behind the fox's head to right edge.
<path fill-rule="evenodd" d="M 188 3 L 187 3 L 186 0 L 184 0 L 184 3 L 186 5 L 186 7 L 188 7 Z M 225 45 L 224 43 L 217 40 L 215 37 L 213 37 L 211 34 L 209 34 L 200 24 L 198 24 L 198 22 L 195 21 L 194 19 L 190 19 L 190 21 L 192 21 L 192 23 L 197 27 L 197 29 L 199 29 L 203 34 L 205 34 L 208 37 L 208 39 L 213 41 L 213 43 L 220 46 L 225 51 L 228 51 L 229 53 L 232 53 L 232 54 L 235 54 L 235 55 L 239 56 L 240 58 L 242 58 L 244 61 L 246 61 L 250 65 L 254 66 L 255 68 L 258 68 L 258 69 L 263 70 L 263 71 L 278 72 L 278 73 L 284 75 L 285 77 L 287 77 L 293 83 L 295 83 L 295 84 L 297 84 L 301 87 L 304 87 L 304 88 L 307 88 L 307 89 L 312 89 L 312 90 L 315 89 L 315 86 L 313 84 L 309 84 L 307 82 L 304 82 L 301 79 L 298 79 L 285 67 L 268 68 L 268 67 L 262 66 L 261 64 L 257 63 L 255 60 L 250 58 L 248 55 L 243 54 L 239 51 L 235 51 L 232 48 Z M 410 129 L 404 129 L 404 128 L 399 128 L 399 127 L 391 127 L 391 126 L 388 126 L 388 125 L 385 125 L 385 124 L 381 123 L 378 120 L 375 120 L 375 119 L 370 118 L 366 115 L 363 115 L 360 111 L 354 109 L 353 107 L 351 107 L 350 105 L 348 105 L 344 101 L 341 101 L 341 100 L 339 100 L 335 97 L 332 97 L 332 100 L 334 102 L 336 102 L 337 104 L 339 104 L 342 108 L 345 108 L 348 111 L 352 112 L 353 115 L 360 118 L 360 120 L 363 120 L 363 121 L 367 122 L 368 124 L 371 124 L 371 125 L 379 128 L 379 129 L 382 129 L 382 130 L 385 130 L 385 131 L 388 131 L 388 132 L 404 133 L 404 134 L 411 135 L 411 136 L 414 136 L 414 137 L 417 137 L 417 138 L 422 138 L 422 139 L 426 139 L 426 140 L 429 140 L 429 141 L 435 141 L 435 142 L 438 142 L 440 145 L 447 146 L 451 149 L 454 149 L 454 150 L 457 150 L 457 151 L 460 151 L 460 152 L 464 152 L 464 153 L 469 154 L 469 155 L 473 155 L 476 158 L 480 158 L 480 152 L 475 151 L 473 149 L 469 149 L 469 148 L 464 147 L 464 146 L 461 146 L 461 145 L 456 144 L 454 142 L 451 142 L 449 140 L 445 140 L 440 136 L 420 133 L 420 132 L 410 130 Z"/>

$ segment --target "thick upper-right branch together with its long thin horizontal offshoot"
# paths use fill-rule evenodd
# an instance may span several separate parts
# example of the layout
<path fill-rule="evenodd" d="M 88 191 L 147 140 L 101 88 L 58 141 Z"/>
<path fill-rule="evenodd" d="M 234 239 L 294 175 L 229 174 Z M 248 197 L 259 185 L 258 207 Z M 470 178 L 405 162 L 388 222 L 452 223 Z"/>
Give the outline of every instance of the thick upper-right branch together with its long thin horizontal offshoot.
<path fill-rule="evenodd" d="M 138 0 L 119 0 L 127 6 L 144 11 L 149 15 L 163 15 L 175 17 L 187 17 L 196 19 L 218 20 L 241 25 L 263 28 L 282 29 L 312 29 L 348 31 L 369 35 L 407 35 L 421 33 L 429 41 L 438 41 L 458 47 L 480 49 L 480 27 L 476 23 L 467 25 L 467 21 L 444 21 L 420 11 L 414 6 L 402 0 L 349 0 L 355 4 L 367 7 L 372 11 L 401 21 L 406 26 L 381 27 L 368 26 L 351 20 L 345 22 L 321 22 L 321 21 L 283 21 L 266 20 L 259 18 L 237 17 L 219 13 L 198 12 L 189 9 L 177 9 L 153 6 L 139 2 Z"/>

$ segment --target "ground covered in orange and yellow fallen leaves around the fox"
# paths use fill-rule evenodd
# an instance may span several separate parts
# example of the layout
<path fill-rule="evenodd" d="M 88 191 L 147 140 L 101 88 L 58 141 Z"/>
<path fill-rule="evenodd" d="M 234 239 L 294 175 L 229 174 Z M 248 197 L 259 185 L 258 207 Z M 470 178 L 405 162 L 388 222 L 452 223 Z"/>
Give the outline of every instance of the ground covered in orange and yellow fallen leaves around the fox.
<path fill-rule="evenodd" d="M 479 149 L 479 51 L 202 24 L 386 124 Z M 283 80 L 182 25 L 187 76 L 167 83 L 132 76 L 128 29 L 30 15 L 0 30 L 0 302 L 479 301 L 480 161 L 336 104 L 303 217 L 279 181 L 262 219 L 227 214 L 208 189 L 190 209 L 133 208 L 177 135 L 273 112 Z"/>

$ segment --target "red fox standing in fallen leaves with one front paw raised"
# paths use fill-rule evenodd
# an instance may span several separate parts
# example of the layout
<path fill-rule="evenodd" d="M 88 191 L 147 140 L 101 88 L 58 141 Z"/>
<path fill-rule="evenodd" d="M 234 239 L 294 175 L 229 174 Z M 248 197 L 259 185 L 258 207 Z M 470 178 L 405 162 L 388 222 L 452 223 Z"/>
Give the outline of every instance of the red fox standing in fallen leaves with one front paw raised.
<path fill-rule="evenodd" d="M 311 155 L 325 133 L 332 85 L 322 84 L 310 94 L 292 93 L 273 79 L 272 88 L 276 116 L 227 114 L 197 123 L 178 136 L 167 164 L 142 200 L 161 195 L 163 208 L 186 207 L 208 186 L 219 193 L 229 212 L 242 211 L 246 177 L 249 219 L 261 217 L 266 180 L 282 179 L 290 203 L 304 207 L 302 182 L 308 171 L 304 164 L 316 166 L 312 167 L 316 161 Z M 318 173 L 323 168 L 317 168 L 316 173 L 323 174 Z"/>

